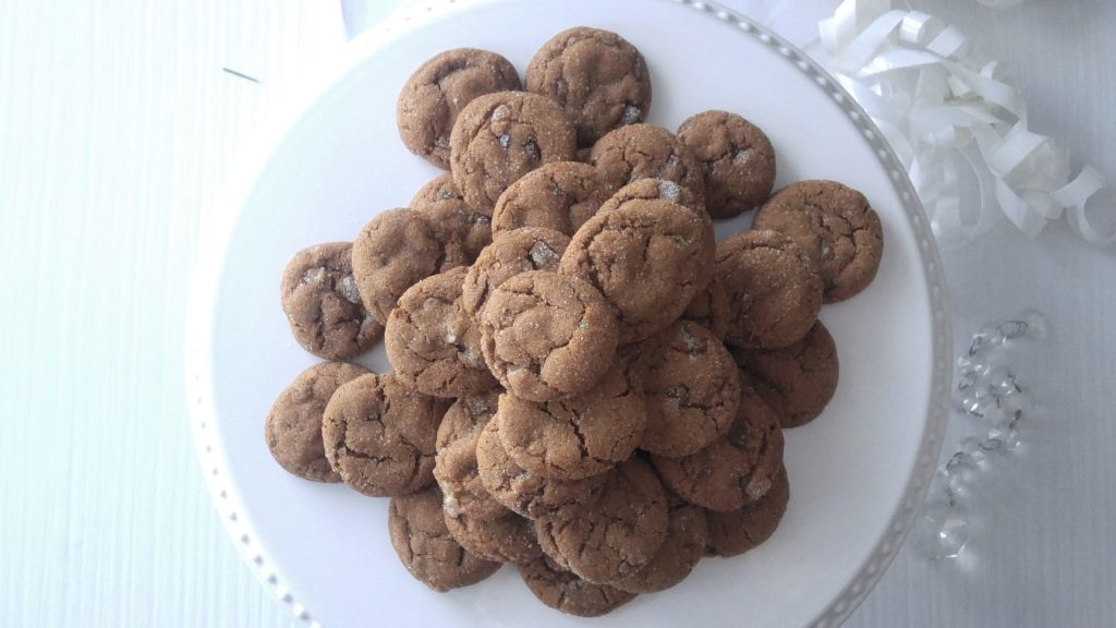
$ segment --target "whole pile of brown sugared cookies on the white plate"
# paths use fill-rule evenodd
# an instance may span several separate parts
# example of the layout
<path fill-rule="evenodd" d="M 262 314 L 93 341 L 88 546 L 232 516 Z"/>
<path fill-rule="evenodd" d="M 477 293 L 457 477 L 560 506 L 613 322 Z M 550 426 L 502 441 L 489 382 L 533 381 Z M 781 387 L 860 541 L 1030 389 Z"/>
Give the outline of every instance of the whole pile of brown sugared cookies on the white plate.
<path fill-rule="evenodd" d="M 644 124 L 651 80 L 618 35 L 558 34 L 527 68 L 458 49 L 403 88 L 404 144 L 449 169 L 353 242 L 299 251 L 282 306 L 329 362 L 266 437 L 289 472 L 389 496 L 391 541 L 444 591 L 516 563 L 596 616 L 747 552 L 789 499 L 782 429 L 837 386 L 822 303 L 875 276 L 876 213 L 805 181 L 710 111 Z M 713 219 L 760 207 L 716 244 Z M 383 336 L 392 371 L 344 362 Z"/>

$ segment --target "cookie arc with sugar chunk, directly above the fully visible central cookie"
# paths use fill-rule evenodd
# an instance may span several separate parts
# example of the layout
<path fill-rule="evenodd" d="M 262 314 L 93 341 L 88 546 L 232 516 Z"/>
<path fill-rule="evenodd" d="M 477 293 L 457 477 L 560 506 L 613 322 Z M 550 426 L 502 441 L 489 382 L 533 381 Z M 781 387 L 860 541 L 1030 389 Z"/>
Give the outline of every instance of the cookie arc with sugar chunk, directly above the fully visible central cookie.
<path fill-rule="evenodd" d="M 465 275 L 461 303 L 474 320 L 500 284 L 528 270 L 557 270 L 569 237 L 552 229 L 525 227 L 501 231 L 477 257 Z"/>

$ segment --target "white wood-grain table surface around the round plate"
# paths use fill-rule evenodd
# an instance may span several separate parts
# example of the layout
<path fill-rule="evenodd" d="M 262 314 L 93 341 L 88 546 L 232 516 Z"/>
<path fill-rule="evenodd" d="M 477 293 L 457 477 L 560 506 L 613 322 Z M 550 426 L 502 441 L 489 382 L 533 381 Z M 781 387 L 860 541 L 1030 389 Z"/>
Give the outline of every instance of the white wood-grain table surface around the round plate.
<path fill-rule="evenodd" d="M 1116 180 L 1116 3 L 913 4 L 978 36 L 1032 129 Z M 210 504 L 182 332 L 238 144 L 343 39 L 326 0 L 0 1 L 0 626 L 300 625 Z M 908 543 L 848 625 L 1116 626 L 1114 255 L 1061 225 L 943 251 L 959 346 L 1048 315 L 1019 364 L 1045 411 L 974 486 L 961 558 Z"/>

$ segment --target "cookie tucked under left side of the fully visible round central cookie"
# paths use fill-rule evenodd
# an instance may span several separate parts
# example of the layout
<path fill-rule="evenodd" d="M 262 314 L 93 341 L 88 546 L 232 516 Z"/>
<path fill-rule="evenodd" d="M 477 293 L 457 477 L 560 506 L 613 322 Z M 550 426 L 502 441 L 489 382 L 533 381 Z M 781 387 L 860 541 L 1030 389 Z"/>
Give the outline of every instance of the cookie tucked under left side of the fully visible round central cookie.
<path fill-rule="evenodd" d="M 496 387 L 480 331 L 461 305 L 462 266 L 407 288 L 387 317 L 384 344 L 395 377 L 432 397 L 477 394 Z"/>

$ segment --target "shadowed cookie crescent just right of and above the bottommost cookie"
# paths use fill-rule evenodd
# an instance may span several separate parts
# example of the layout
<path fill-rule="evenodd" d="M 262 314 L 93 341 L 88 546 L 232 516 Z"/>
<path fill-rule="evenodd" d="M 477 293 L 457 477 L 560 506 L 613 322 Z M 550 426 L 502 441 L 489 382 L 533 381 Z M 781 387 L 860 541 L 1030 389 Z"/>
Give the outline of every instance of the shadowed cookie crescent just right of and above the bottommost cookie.
<path fill-rule="evenodd" d="M 643 569 L 610 586 L 632 593 L 653 593 L 670 589 L 685 580 L 705 553 L 709 540 L 705 510 L 687 504 L 674 495 L 670 503 L 666 540 Z"/>

